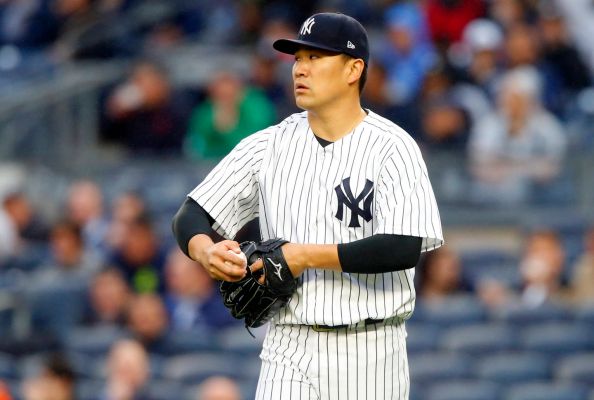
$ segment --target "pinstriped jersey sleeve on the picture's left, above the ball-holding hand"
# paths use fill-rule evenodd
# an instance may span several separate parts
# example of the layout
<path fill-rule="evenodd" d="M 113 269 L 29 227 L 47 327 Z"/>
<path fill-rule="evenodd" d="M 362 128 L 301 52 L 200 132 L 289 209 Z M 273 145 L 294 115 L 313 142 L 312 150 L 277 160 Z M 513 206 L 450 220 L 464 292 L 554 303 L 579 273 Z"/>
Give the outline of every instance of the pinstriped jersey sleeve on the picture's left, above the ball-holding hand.
<path fill-rule="evenodd" d="M 258 216 L 258 173 L 264 159 L 270 131 L 243 139 L 188 195 L 214 219 L 213 229 L 234 238 Z"/>

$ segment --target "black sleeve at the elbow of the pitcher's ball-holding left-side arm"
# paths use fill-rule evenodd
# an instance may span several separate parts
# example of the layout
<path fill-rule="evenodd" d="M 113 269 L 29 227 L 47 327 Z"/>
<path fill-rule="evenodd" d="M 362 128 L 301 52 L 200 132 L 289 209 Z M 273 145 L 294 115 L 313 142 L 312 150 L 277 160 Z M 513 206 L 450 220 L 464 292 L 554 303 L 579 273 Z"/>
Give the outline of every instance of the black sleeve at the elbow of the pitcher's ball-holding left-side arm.
<path fill-rule="evenodd" d="M 204 233 L 210 235 L 214 219 L 191 198 L 186 198 L 172 221 L 173 235 L 177 240 L 179 248 L 185 255 L 190 257 L 188 252 L 188 243 L 195 235 Z"/>

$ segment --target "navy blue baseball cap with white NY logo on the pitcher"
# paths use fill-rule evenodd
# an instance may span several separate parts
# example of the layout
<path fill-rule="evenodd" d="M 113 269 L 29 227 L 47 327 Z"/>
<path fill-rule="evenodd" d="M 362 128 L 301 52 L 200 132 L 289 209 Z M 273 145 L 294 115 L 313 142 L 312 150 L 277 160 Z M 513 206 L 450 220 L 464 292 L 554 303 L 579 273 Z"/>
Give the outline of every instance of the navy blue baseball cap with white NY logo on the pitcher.
<path fill-rule="evenodd" d="M 353 17 L 340 13 L 319 13 L 309 17 L 297 39 L 279 39 L 272 44 L 281 53 L 295 54 L 300 47 L 312 47 L 369 61 L 367 31 Z"/>

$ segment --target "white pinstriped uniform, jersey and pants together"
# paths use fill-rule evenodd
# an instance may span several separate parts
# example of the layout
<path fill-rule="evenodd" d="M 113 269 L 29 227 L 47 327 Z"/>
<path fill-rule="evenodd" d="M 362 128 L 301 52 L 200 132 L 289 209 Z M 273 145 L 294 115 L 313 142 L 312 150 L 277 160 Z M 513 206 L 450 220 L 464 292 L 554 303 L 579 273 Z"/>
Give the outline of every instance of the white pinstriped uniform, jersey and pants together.
<path fill-rule="evenodd" d="M 361 209 L 364 200 L 354 204 L 361 193 L 370 199 L 371 215 Z M 423 238 L 422 251 L 443 243 L 417 144 L 373 112 L 327 146 L 315 138 L 306 112 L 293 114 L 244 139 L 189 195 L 228 238 L 259 216 L 263 239 L 328 244 L 399 234 Z M 307 269 L 271 324 L 256 398 L 407 399 L 404 322 L 323 333 L 307 325 L 404 321 L 414 309 L 414 273 Z"/>

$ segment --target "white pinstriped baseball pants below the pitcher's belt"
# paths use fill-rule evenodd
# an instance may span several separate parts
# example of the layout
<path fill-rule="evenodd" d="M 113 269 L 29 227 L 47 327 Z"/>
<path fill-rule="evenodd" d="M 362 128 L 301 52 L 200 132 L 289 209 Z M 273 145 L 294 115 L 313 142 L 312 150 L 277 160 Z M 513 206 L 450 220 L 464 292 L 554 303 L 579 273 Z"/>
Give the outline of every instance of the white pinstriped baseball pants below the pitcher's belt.
<path fill-rule="evenodd" d="M 405 400 L 404 322 L 316 332 L 270 324 L 256 400 Z"/>

